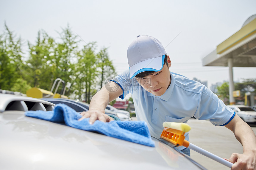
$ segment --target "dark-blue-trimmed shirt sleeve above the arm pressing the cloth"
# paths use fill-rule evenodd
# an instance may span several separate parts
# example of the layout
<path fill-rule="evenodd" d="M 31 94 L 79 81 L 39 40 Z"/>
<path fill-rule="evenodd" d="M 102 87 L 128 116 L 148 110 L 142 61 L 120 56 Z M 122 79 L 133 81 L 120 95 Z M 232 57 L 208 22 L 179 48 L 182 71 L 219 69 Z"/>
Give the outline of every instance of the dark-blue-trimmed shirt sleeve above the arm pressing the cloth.
<path fill-rule="evenodd" d="M 115 76 L 110 81 L 114 81 L 116 84 L 118 84 L 121 89 L 123 90 L 123 94 L 119 96 L 119 98 L 124 99 L 124 97 L 130 93 L 132 89 L 132 79 L 129 77 L 129 69 L 125 70 L 123 73 L 119 74 L 118 76 Z"/>

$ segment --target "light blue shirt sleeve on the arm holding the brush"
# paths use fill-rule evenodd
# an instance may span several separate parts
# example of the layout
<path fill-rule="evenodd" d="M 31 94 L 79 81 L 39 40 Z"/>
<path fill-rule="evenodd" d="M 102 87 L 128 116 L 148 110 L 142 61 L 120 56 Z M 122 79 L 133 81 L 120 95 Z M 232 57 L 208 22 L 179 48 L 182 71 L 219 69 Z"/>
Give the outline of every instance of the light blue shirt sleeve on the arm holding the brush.
<path fill-rule="evenodd" d="M 203 86 L 194 116 L 199 120 L 209 120 L 215 126 L 224 126 L 232 120 L 235 112 L 227 107 L 210 89 Z"/>

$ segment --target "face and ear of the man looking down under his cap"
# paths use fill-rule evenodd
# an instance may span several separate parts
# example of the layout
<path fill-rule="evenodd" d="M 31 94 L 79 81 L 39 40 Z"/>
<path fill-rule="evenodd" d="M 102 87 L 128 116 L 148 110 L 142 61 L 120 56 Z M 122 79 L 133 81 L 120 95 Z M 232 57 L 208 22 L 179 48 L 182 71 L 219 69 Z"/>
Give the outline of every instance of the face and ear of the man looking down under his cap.
<path fill-rule="evenodd" d="M 168 65 L 163 65 L 162 70 L 145 78 L 136 78 L 138 83 L 146 89 L 146 91 L 154 94 L 155 96 L 163 95 L 171 84 L 171 76 L 169 67 L 171 67 L 171 60 L 168 56 Z"/>

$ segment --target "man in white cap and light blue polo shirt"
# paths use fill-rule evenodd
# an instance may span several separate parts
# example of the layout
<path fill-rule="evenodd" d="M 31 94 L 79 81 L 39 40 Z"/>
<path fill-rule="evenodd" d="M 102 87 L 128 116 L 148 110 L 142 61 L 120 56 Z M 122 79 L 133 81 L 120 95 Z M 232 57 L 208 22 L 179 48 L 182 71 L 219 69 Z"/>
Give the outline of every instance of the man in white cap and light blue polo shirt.
<path fill-rule="evenodd" d="M 163 122 L 187 122 L 195 117 L 209 120 L 213 125 L 225 126 L 234 132 L 243 145 L 243 154 L 233 153 L 228 161 L 235 169 L 256 169 L 256 137 L 250 126 L 243 122 L 233 110 L 197 81 L 171 73 L 170 57 L 163 45 L 151 36 L 138 36 L 127 50 L 129 70 L 110 80 L 91 102 L 88 112 L 81 113 L 90 118 L 90 123 L 100 120 L 113 121 L 104 114 L 107 104 L 117 97 L 132 94 L 138 120 L 146 121 L 151 136 L 160 137 Z M 186 138 L 188 134 L 186 134 Z M 187 155 L 189 149 L 177 147 Z"/>

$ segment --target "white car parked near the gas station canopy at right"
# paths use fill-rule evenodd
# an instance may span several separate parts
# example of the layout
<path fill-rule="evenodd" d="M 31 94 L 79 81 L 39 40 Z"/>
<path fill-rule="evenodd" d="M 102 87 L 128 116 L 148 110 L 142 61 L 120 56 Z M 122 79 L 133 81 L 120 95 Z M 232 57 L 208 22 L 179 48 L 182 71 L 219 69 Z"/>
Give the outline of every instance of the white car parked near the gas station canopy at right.
<path fill-rule="evenodd" d="M 247 123 L 256 122 L 256 109 L 246 105 L 228 105 L 235 113 Z"/>

